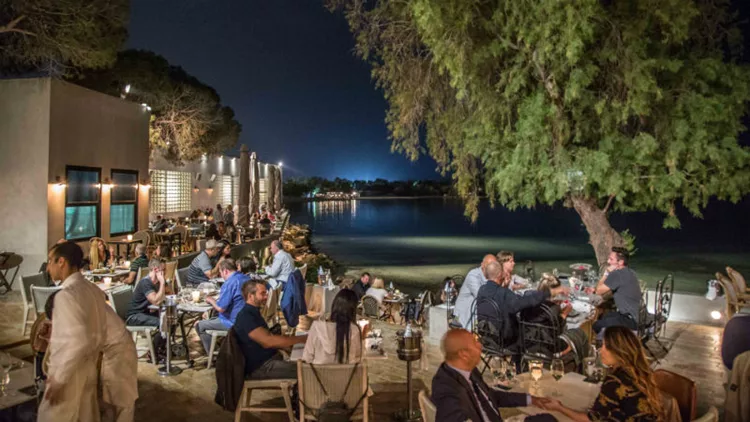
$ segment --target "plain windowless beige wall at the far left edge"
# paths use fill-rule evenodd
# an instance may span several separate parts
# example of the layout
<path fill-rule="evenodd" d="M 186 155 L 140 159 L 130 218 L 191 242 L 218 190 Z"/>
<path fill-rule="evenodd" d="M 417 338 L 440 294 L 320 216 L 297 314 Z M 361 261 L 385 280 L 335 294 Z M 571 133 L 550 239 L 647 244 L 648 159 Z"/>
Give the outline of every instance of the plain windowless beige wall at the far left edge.
<path fill-rule="evenodd" d="M 49 91 L 49 79 L 0 81 L 0 250 L 23 256 L 19 277 L 47 260 Z"/>

